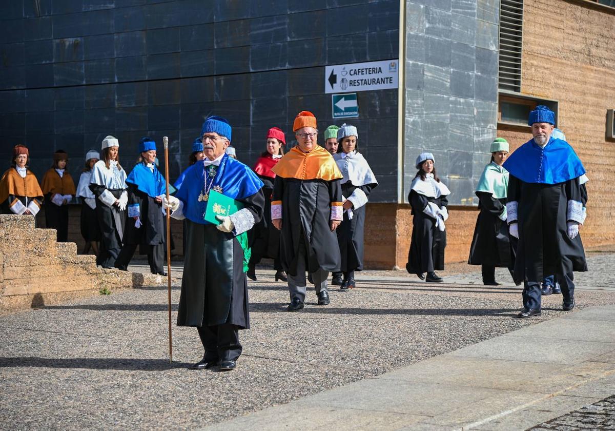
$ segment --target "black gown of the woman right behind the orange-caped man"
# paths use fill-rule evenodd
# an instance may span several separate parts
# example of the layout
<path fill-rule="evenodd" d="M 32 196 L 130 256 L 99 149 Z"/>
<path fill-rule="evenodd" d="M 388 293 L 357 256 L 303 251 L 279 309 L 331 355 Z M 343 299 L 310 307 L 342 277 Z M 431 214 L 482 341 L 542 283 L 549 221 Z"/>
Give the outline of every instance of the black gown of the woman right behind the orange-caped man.
<path fill-rule="evenodd" d="M 367 184 L 360 187 L 347 181 L 342 184 L 342 195 L 349 198 L 356 188 L 363 190 L 366 196 L 370 196 L 371 189 L 376 184 Z M 344 220 L 335 230 L 338 235 L 339 254 L 341 255 L 341 270 L 343 272 L 363 270 L 363 231 L 365 228 L 365 205 L 352 210 L 352 219 L 344 211 Z"/>

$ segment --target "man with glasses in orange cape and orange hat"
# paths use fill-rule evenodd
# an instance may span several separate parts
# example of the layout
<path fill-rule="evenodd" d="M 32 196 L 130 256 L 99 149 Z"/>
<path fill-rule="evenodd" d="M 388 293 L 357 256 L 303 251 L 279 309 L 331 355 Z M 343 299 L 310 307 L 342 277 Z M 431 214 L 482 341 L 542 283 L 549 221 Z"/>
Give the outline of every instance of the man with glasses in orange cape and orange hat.
<path fill-rule="evenodd" d="M 281 230 L 280 257 L 288 273 L 288 311 L 304 307 L 306 270 L 311 274 L 319 305 L 330 303 L 329 271 L 339 271 L 336 228 L 343 219 L 343 175 L 333 156 L 317 144 L 316 118 L 301 111 L 293 123 L 298 145 L 272 168 L 272 224 Z"/>

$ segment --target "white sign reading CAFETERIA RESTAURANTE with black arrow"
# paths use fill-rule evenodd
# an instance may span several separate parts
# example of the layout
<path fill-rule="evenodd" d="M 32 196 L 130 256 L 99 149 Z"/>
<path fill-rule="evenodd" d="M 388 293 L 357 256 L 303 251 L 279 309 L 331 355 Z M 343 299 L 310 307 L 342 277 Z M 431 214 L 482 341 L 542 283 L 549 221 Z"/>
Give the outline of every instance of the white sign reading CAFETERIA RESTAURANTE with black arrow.
<path fill-rule="evenodd" d="M 399 60 L 325 67 L 325 93 L 397 88 Z"/>

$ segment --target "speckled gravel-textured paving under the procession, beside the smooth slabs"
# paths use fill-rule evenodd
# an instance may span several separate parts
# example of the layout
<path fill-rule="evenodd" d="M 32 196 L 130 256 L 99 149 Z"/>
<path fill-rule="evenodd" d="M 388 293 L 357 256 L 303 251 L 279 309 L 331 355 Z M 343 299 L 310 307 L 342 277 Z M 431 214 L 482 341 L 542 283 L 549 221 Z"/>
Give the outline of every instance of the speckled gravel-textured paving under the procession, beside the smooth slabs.
<path fill-rule="evenodd" d="M 577 279 L 590 289 L 577 291 L 576 310 L 615 304 L 607 278 L 615 254 L 592 254 L 589 265 L 592 273 Z M 561 311 L 561 296 L 550 296 L 541 318 L 515 319 L 520 288 L 482 286 L 478 267 L 451 269 L 440 285 L 405 272 L 363 272 L 361 288 L 331 291 L 328 307 L 315 305 L 312 290 L 300 313 L 284 311 L 285 284 L 258 270 L 249 283 L 252 329 L 240 335 L 244 354 L 231 373 L 186 369 L 202 356 L 192 328 L 173 327 L 169 363 L 166 288 L 1 316 L 0 427 L 200 427 L 570 314 Z M 498 276 L 506 280 L 506 272 Z"/>

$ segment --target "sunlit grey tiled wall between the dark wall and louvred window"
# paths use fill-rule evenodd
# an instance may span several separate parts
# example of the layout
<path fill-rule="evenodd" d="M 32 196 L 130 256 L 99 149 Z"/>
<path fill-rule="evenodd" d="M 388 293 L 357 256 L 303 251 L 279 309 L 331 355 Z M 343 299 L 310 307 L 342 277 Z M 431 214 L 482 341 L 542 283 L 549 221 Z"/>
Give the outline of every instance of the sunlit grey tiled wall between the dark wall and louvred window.
<path fill-rule="evenodd" d="M 405 31 L 404 202 L 431 151 L 450 203 L 472 205 L 496 136 L 499 1 L 407 1 Z"/>

